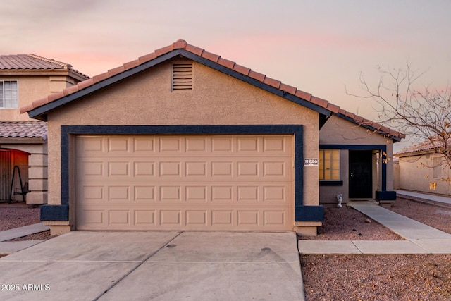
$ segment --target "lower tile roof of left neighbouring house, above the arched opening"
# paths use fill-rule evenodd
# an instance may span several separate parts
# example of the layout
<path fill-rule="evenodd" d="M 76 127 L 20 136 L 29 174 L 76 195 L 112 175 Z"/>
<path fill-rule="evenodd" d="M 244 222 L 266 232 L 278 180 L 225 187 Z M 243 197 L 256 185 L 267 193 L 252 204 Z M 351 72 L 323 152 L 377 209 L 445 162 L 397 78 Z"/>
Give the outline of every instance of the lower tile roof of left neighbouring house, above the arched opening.
<path fill-rule="evenodd" d="M 47 140 L 47 122 L 0 121 L 1 138 L 42 138 L 42 140 Z"/>

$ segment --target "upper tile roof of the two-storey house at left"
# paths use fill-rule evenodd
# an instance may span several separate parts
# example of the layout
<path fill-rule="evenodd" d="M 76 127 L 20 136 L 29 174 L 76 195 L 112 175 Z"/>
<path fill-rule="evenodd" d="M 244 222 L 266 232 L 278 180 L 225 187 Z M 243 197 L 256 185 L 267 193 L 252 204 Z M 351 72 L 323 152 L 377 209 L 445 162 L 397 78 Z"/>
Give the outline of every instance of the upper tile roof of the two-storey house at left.
<path fill-rule="evenodd" d="M 8 54 L 0 56 L 0 70 L 55 70 L 67 69 L 72 70 L 78 75 L 88 79 L 89 76 L 72 68 L 72 65 L 55 61 L 54 59 L 46 59 L 36 54 Z"/>

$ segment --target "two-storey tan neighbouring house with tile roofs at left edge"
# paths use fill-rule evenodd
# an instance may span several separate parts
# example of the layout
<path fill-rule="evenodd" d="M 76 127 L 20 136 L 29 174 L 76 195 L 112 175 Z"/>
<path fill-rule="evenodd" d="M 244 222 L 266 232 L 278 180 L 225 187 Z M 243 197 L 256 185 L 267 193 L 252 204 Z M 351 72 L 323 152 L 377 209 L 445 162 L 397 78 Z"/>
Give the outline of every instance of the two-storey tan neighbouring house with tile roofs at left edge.
<path fill-rule="evenodd" d="M 27 204 L 47 204 L 47 123 L 19 108 L 88 78 L 35 54 L 0 56 L 0 202 L 12 195 L 26 196 Z"/>

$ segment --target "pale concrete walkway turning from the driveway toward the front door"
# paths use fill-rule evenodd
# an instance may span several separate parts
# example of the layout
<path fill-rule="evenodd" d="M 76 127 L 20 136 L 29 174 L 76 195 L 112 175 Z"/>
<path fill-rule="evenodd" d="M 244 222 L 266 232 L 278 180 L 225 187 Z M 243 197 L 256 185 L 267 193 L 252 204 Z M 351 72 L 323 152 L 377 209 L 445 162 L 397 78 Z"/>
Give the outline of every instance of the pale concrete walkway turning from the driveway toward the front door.
<path fill-rule="evenodd" d="M 427 195 L 421 195 L 426 199 Z M 299 240 L 300 254 L 451 254 L 451 234 L 426 226 L 373 202 L 351 207 L 406 240 Z"/>

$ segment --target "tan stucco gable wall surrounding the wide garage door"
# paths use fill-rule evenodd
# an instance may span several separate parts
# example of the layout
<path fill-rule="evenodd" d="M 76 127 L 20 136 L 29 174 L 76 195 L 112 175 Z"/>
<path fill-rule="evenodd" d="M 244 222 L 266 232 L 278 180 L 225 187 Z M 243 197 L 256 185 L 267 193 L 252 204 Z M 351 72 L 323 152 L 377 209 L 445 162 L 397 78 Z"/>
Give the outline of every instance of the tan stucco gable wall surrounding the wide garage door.
<path fill-rule="evenodd" d="M 317 157 L 319 115 L 193 62 L 192 91 L 171 92 L 171 63 L 49 113 L 49 204 L 60 204 L 60 125 L 304 125 L 304 156 Z M 319 204 L 318 168 L 304 168 L 304 204 Z"/>

